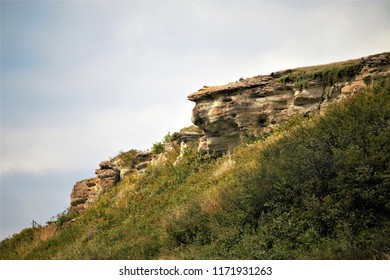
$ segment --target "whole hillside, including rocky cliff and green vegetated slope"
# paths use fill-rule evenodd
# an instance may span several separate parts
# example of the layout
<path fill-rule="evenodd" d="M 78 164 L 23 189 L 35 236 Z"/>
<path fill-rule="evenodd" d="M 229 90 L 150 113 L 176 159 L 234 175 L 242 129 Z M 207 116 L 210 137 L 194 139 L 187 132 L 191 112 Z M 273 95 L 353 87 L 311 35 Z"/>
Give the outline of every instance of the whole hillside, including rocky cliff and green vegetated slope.
<path fill-rule="evenodd" d="M 386 53 L 203 88 L 197 127 L 102 162 L 0 258 L 390 259 L 389 71 Z"/>

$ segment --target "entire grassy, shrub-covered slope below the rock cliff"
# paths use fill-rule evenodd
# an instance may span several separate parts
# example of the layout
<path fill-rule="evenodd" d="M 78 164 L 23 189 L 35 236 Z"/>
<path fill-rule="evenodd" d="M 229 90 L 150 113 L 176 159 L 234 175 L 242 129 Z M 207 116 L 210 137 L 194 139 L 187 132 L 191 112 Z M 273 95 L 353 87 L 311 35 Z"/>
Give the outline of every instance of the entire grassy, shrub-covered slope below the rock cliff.
<path fill-rule="evenodd" d="M 2 259 L 390 259 L 390 81 L 225 157 L 169 151 Z"/>

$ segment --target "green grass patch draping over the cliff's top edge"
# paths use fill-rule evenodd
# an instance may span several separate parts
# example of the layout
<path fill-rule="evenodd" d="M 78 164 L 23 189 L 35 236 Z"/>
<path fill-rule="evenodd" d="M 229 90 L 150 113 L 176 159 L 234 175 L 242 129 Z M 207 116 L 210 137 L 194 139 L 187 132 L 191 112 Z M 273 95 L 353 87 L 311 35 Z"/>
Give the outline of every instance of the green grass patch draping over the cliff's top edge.
<path fill-rule="evenodd" d="M 325 86 L 350 80 L 362 69 L 360 60 L 351 60 L 329 65 L 312 66 L 285 71 L 279 82 L 293 82 L 299 88 L 306 88 L 309 81 L 318 80 Z"/>

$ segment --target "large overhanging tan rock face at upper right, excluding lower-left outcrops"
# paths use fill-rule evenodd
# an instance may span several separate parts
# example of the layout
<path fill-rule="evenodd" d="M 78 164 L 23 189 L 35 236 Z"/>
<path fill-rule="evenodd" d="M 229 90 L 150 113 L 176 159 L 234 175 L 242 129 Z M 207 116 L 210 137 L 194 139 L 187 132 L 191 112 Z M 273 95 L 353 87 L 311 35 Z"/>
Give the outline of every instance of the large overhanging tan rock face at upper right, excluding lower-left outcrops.
<path fill-rule="evenodd" d="M 228 153 L 248 136 L 262 134 L 293 115 L 317 113 L 364 90 L 390 76 L 390 53 L 317 68 L 240 79 L 190 94 L 188 99 L 196 103 L 192 122 L 204 132 L 199 151 Z"/>

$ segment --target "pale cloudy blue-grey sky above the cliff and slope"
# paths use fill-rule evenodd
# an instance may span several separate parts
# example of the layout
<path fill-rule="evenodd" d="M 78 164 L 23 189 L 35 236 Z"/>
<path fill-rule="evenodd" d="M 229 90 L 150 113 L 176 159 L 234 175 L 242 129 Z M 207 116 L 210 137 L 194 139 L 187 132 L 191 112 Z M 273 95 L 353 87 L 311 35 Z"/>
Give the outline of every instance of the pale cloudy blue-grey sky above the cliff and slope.
<path fill-rule="evenodd" d="M 0 240 L 119 151 L 191 125 L 204 85 L 389 51 L 387 1 L 1 0 Z"/>

